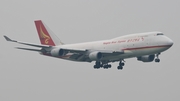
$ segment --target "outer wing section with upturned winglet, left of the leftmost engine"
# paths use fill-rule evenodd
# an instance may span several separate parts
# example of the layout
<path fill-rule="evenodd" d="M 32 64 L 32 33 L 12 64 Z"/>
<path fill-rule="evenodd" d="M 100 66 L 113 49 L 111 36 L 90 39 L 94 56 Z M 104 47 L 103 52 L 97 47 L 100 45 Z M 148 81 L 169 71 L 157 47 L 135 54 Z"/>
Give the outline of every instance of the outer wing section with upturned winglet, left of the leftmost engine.
<path fill-rule="evenodd" d="M 49 45 L 38 45 L 38 44 L 33 44 L 33 43 L 20 42 L 20 41 L 12 40 L 12 39 L 10 39 L 10 38 L 7 37 L 7 36 L 4 36 L 4 38 L 5 38 L 7 41 L 10 41 L 10 42 L 16 42 L 16 43 L 19 43 L 19 44 L 28 45 L 28 46 L 33 46 L 33 47 L 40 47 L 40 48 L 49 48 L 49 47 L 51 47 L 51 46 L 49 46 Z"/>

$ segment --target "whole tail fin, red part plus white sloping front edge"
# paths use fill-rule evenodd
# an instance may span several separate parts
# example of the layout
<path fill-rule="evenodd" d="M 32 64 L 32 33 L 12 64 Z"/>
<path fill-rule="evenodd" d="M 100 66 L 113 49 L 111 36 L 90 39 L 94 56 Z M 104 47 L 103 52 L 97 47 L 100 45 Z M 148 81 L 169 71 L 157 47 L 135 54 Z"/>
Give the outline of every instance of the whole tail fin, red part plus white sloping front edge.
<path fill-rule="evenodd" d="M 59 38 L 55 34 L 53 34 L 52 31 L 50 31 L 50 29 L 45 24 L 43 24 L 41 20 L 36 20 L 34 22 L 36 25 L 36 29 L 37 29 L 41 44 L 50 45 L 50 46 L 63 44 L 59 40 Z"/>

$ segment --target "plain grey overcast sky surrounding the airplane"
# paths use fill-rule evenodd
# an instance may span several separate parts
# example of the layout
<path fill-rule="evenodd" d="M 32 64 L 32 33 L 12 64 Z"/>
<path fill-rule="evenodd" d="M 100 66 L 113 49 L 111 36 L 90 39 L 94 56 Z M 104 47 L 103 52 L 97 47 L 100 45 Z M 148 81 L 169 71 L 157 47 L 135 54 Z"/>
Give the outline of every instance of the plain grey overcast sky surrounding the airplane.
<path fill-rule="evenodd" d="M 1 0 L 0 101 L 179 101 L 179 0 Z M 64 43 L 162 31 L 174 41 L 160 63 L 127 59 L 108 70 L 17 50 L 40 43 L 41 19 Z M 26 47 L 26 46 L 23 46 Z"/>

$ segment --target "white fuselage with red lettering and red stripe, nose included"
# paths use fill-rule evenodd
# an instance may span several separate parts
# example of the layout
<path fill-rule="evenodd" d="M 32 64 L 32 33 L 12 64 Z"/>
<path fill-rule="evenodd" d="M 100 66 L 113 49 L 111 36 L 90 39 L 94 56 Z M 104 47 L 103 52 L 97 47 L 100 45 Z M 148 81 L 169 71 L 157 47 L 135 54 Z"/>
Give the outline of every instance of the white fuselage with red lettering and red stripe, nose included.
<path fill-rule="evenodd" d="M 103 57 L 101 60 L 118 61 L 119 59 L 139 57 L 143 55 L 152 55 L 161 53 L 173 44 L 172 40 L 161 32 L 148 32 L 131 34 L 122 37 L 113 38 L 110 40 L 85 42 L 77 44 L 67 44 L 57 46 L 59 48 L 74 48 L 74 49 L 88 49 L 88 50 L 123 50 L 125 54 L 116 56 Z M 68 54 L 67 54 L 68 55 Z M 72 55 L 72 53 L 71 53 Z M 70 58 L 64 58 L 72 60 Z M 73 61 L 78 61 L 74 60 Z"/>

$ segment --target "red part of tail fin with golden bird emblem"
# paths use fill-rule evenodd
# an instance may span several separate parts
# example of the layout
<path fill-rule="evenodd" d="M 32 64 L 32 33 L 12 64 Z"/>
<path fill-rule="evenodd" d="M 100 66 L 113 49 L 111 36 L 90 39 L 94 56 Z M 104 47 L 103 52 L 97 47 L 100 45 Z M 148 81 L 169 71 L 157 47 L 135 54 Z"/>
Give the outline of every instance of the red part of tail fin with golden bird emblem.
<path fill-rule="evenodd" d="M 53 39 L 51 38 L 50 33 L 44 26 L 43 22 L 41 20 L 37 20 L 35 21 L 35 24 L 36 24 L 36 29 L 37 29 L 41 44 L 55 46 L 55 43 Z"/>

